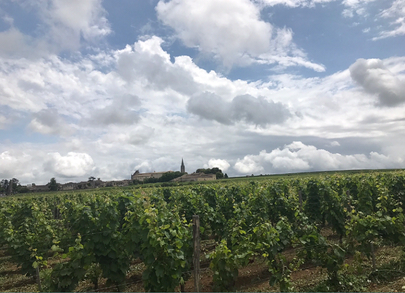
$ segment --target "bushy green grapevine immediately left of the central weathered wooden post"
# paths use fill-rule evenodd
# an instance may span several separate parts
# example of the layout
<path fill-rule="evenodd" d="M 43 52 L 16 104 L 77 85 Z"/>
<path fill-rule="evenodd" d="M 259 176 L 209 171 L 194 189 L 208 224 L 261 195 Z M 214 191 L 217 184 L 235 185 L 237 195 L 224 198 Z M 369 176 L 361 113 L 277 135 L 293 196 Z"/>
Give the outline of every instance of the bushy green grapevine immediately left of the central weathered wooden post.
<path fill-rule="evenodd" d="M 127 213 L 125 228 L 133 245 L 134 256 L 141 256 L 145 289 L 152 292 L 174 291 L 183 272 L 191 265 L 190 225 L 162 202 L 157 209 L 150 198 L 133 202 L 136 209 Z"/>

